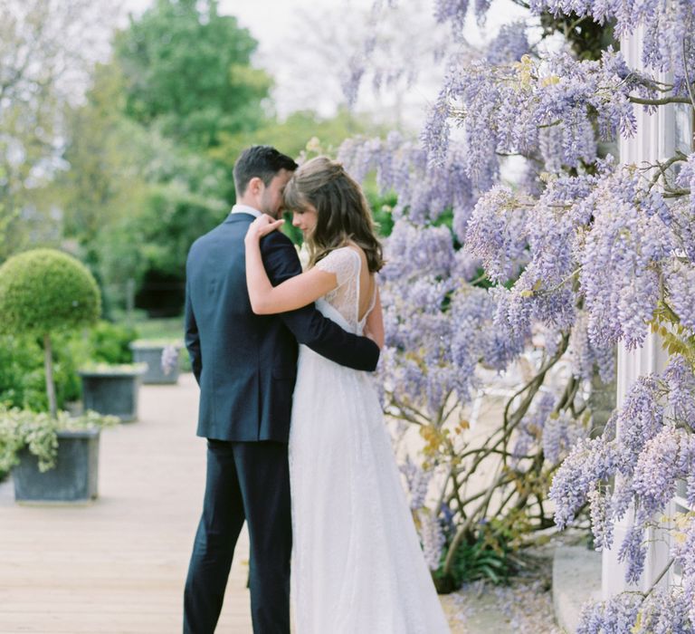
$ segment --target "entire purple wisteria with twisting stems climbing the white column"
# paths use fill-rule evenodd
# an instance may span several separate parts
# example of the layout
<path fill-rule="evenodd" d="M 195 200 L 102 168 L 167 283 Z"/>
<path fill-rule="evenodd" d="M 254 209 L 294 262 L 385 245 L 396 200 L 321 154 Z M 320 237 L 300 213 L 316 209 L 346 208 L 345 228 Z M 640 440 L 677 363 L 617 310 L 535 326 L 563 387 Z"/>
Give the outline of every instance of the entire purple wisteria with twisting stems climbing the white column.
<path fill-rule="evenodd" d="M 457 41 L 468 13 L 481 23 L 490 5 L 470 4 L 433 2 Z M 635 133 L 637 108 L 686 104 L 692 119 L 695 4 L 531 0 L 530 12 L 554 16 L 561 33 L 588 20 L 611 22 L 618 35 L 642 27 L 646 70 L 611 47 L 577 55 L 576 38 L 571 47 L 543 47 L 528 42 L 524 24 L 508 25 L 479 59 L 471 61 L 471 47 L 449 59 L 420 143 L 392 133 L 352 139 L 340 151 L 357 178 L 376 172 L 398 199 L 383 280 L 386 406 L 423 427 L 427 461 L 449 469 L 442 505 L 422 515 L 431 562 L 441 542 L 437 513 L 440 528 L 455 524 L 446 570 L 476 522 L 531 504 L 543 495 L 528 485 L 538 482 L 538 466 L 564 460 L 551 494 L 557 525 L 587 512 L 595 544 L 607 548 L 615 521 L 629 514 L 633 527 L 618 548 L 628 580 L 637 581 L 645 528 L 677 481 L 695 504 L 695 152 L 621 165 L 606 156 L 605 141 Z M 524 162 L 511 181 L 510 157 Z M 596 372 L 612 379 L 615 344 L 642 345 L 650 326 L 668 346 L 668 369 L 639 379 L 605 427 L 595 427 L 582 386 Z M 497 435 L 476 453 L 443 433 L 479 388 L 477 370 L 507 370 L 529 351 L 534 376 L 519 383 Z M 565 361 L 568 379 L 550 385 Z M 474 517 L 458 495 L 471 471 L 457 456 L 469 455 L 505 466 Z M 519 473 L 530 478 L 519 488 L 533 493 L 492 504 Z M 597 603 L 580 631 L 692 631 L 695 521 L 676 525 L 682 586 Z"/>

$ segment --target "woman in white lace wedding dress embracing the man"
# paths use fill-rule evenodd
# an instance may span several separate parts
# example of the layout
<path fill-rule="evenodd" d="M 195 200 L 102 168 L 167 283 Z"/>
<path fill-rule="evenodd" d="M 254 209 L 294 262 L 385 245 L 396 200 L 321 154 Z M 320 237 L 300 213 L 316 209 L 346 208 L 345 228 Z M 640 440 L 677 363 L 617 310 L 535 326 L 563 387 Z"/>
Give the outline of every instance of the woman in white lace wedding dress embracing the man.
<path fill-rule="evenodd" d="M 382 267 L 367 201 L 339 163 L 309 160 L 290 179 L 285 207 L 309 245 L 309 269 L 273 287 L 249 227 L 246 282 L 253 312 L 316 302 L 344 329 L 380 347 L 375 275 Z M 300 346 L 290 427 L 291 596 L 299 634 L 449 632 L 395 465 L 374 378 Z"/>

